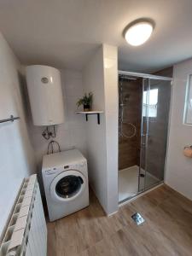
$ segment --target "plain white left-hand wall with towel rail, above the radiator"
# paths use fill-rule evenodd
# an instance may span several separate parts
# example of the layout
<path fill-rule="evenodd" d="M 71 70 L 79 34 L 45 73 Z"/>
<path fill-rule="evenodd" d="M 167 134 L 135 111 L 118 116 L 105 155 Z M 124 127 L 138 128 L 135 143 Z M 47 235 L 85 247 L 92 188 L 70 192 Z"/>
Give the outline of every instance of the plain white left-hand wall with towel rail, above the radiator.
<path fill-rule="evenodd" d="M 14 123 L 0 124 L 0 236 L 23 177 L 35 172 L 20 80 L 20 63 L 0 34 L 0 119 L 20 116 Z"/>

